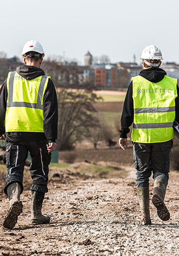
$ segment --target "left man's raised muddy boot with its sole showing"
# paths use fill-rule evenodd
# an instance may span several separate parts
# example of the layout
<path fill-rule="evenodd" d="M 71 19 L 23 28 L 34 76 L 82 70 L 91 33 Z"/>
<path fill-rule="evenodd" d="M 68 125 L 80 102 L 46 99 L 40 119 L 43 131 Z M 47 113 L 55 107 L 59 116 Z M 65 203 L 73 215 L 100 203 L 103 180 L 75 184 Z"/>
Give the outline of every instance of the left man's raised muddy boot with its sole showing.
<path fill-rule="evenodd" d="M 22 213 L 23 204 L 20 201 L 22 187 L 18 182 L 10 184 L 7 194 L 10 201 L 10 208 L 5 216 L 3 226 L 12 229 L 18 221 L 18 216 Z"/>

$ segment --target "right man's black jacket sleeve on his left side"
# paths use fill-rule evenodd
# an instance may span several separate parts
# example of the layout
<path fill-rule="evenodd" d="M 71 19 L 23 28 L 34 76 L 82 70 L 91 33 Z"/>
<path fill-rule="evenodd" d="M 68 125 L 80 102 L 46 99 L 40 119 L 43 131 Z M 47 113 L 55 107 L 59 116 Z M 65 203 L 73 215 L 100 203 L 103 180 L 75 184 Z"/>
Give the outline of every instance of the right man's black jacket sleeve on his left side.
<path fill-rule="evenodd" d="M 133 103 L 133 85 L 132 81 L 128 87 L 126 98 L 124 101 L 123 112 L 121 116 L 121 130 L 119 131 L 120 138 L 127 138 L 127 134 L 130 132 L 129 127 L 133 123 L 134 119 L 134 103 Z"/>

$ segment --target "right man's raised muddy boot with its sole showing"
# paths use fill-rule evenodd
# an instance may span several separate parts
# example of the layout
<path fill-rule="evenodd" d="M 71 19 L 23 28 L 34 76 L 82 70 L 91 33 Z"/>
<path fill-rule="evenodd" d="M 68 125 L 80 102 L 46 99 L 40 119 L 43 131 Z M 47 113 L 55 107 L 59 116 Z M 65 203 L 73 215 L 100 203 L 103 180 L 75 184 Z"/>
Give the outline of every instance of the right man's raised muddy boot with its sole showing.
<path fill-rule="evenodd" d="M 156 178 L 153 186 L 152 203 L 157 209 L 158 217 L 163 220 L 169 220 L 170 214 L 164 204 L 167 181 L 163 178 Z"/>

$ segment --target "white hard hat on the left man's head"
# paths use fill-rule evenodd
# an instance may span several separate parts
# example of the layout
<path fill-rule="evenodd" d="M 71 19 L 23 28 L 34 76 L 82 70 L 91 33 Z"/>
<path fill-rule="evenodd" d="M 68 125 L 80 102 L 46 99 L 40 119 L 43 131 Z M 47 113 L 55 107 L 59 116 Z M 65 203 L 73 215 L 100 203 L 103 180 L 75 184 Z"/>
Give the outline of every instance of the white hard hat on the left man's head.
<path fill-rule="evenodd" d="M 27 43 L 25 43 L 22 50 L 22 56 L 25 57 L 25 54 L 29 51 L 35 51 L 35 52 L 41 53 L 42 58 L 45 56 L 42 45 L 36 40 L 30 40 Z"/>

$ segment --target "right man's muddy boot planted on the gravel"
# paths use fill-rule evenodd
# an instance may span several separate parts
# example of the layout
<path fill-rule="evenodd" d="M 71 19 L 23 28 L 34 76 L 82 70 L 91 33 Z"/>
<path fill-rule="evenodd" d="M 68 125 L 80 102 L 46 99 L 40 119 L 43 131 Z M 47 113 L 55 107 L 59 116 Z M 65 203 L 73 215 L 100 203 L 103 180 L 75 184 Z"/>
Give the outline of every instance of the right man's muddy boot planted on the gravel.
<path fill-rule="evenodd" d="M 149 187 L 137 187 L 139 205 L 141 209 L 142 225 L 151 225 L 150 210 L 149 210 Z"/>

